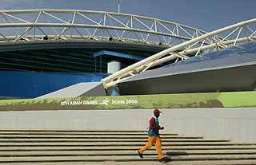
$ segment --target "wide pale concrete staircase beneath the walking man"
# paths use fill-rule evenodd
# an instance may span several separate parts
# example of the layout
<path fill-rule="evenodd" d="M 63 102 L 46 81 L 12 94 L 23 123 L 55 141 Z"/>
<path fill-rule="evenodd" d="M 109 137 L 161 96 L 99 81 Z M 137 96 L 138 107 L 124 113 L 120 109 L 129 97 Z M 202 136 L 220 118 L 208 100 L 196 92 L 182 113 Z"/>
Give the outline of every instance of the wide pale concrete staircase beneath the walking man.
<path fill-rule="evenodd" d="M 168 164 L 256 164 L 256 143 L 162 133 Z M 0 129 L 1 164 L 159 164 L 147 131 Z"/>

